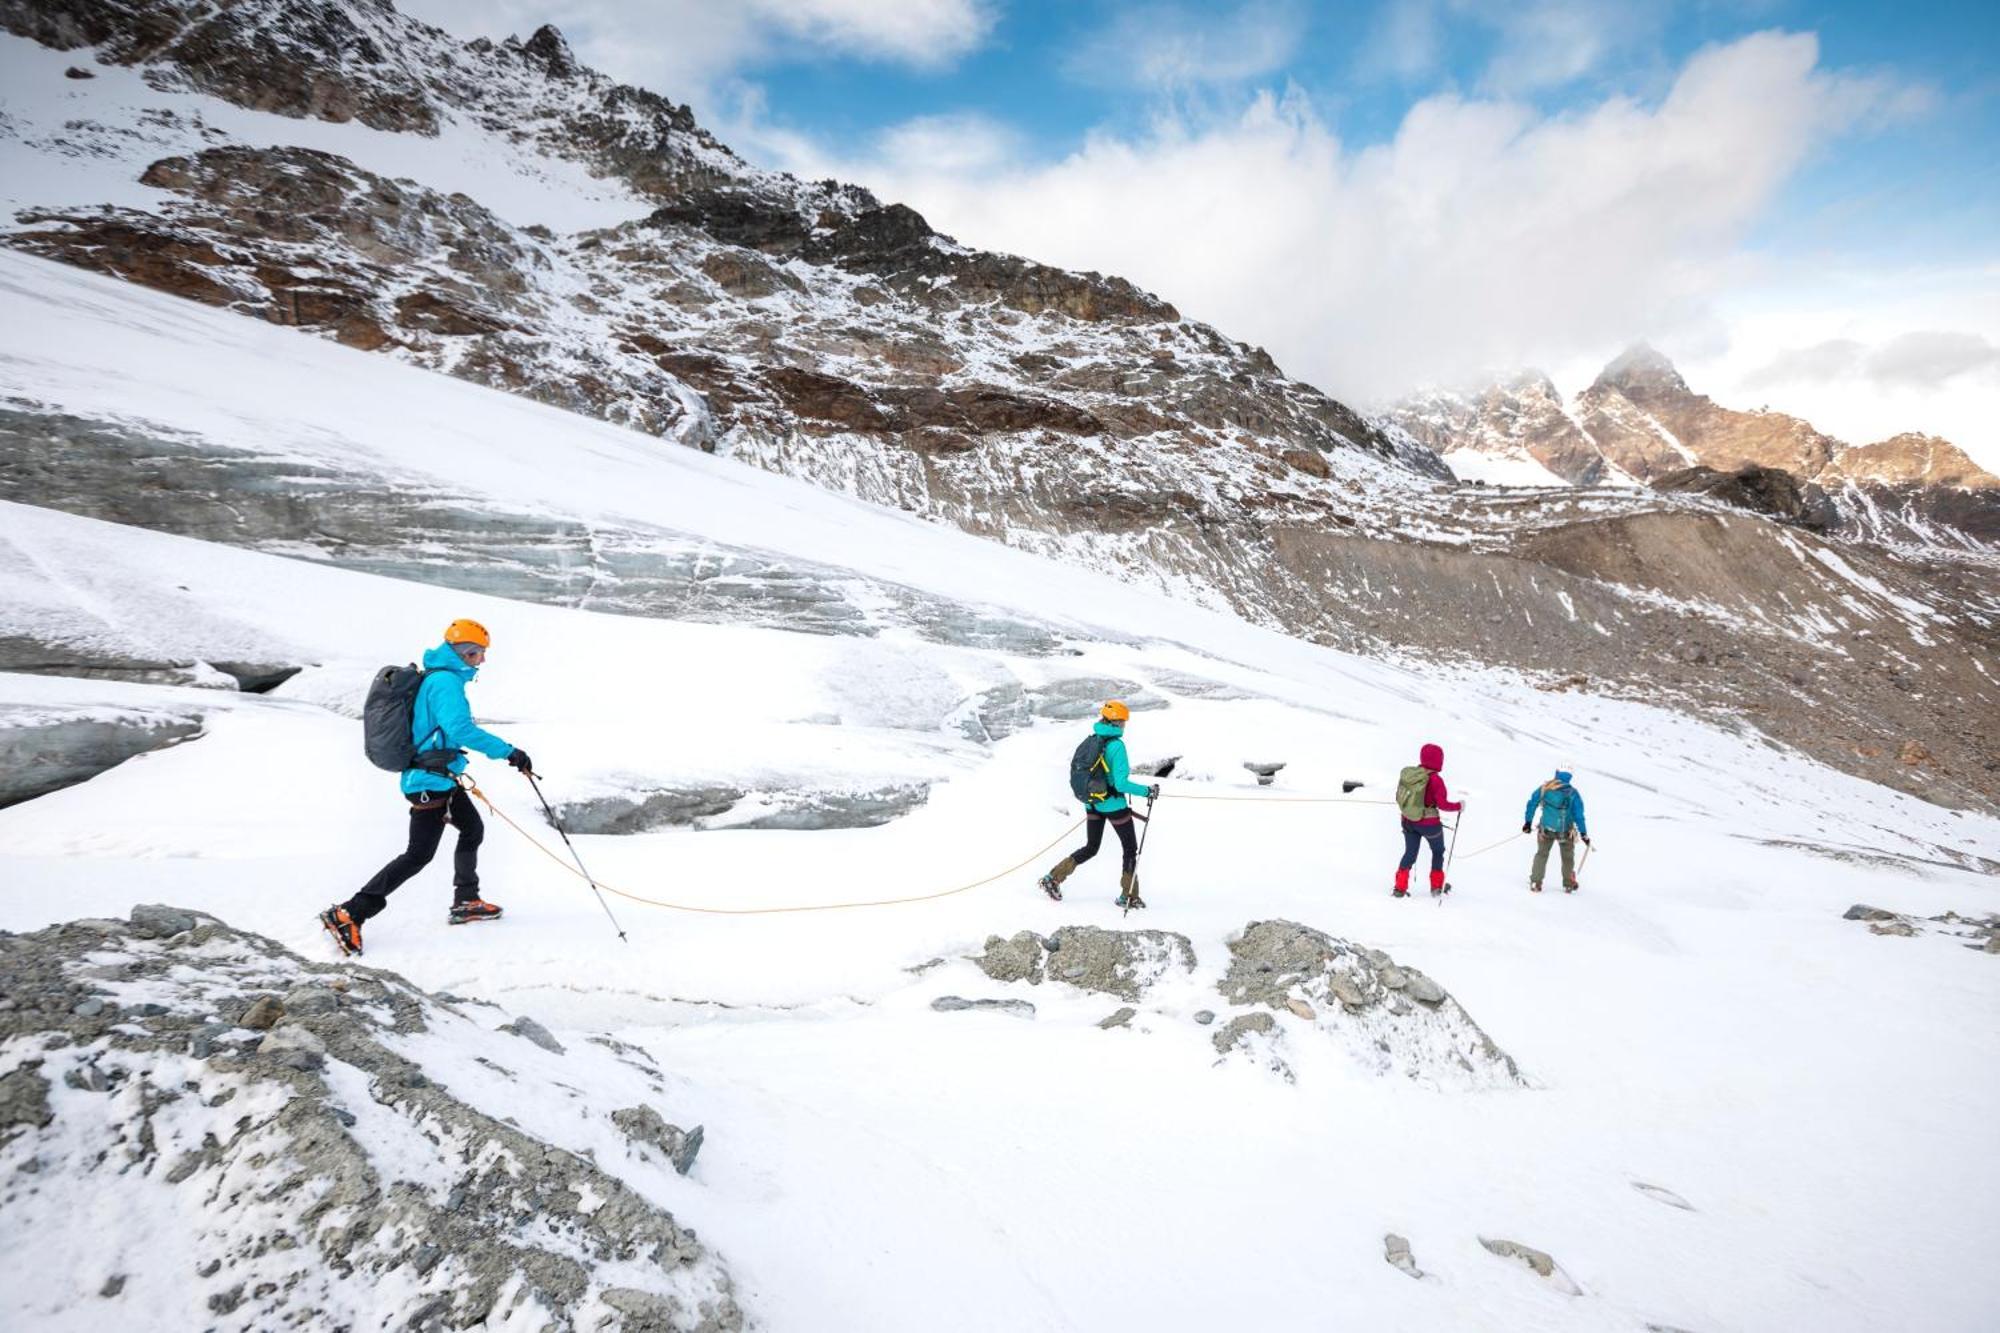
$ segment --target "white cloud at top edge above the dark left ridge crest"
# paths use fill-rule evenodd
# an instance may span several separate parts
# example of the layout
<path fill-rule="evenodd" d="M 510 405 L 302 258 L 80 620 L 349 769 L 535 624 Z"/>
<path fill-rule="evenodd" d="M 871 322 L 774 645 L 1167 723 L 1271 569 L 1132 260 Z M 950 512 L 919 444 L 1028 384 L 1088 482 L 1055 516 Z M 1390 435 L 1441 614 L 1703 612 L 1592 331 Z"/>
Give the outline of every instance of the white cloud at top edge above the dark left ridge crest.
<path fill-rule="evenodd" d="M 400 8 L 464 38 L 528 36 L 552 22 L 584 64 L 704 106 L 744 66 L 776 56 L 946 68 L 992 32 L 994 2 L 400 0 Z"/>

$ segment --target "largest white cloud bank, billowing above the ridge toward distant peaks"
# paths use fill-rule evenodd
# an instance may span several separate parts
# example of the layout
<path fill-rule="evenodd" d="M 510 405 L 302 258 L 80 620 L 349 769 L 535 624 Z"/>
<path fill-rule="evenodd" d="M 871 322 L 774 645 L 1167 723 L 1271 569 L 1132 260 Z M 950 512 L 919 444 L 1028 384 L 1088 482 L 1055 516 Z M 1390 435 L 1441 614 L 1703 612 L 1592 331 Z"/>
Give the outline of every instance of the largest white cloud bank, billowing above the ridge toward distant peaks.
<path fill-rule="evenodd" d="M 996 164 L 976 122 L 978 170 L 788 148 L 970 244 L 1130 276 L 1382 402 L 1706 328 L 1712 298 L 1752 274 L 1738 246 L 1774 192 L 1886 96 L 1820 70 L 1814 38 L 1770 32 L 1696 54 L 1656 106 L 1544 116 L 1434 96 L 1358 150 L 1296 92 L 1044 164 Z"/>

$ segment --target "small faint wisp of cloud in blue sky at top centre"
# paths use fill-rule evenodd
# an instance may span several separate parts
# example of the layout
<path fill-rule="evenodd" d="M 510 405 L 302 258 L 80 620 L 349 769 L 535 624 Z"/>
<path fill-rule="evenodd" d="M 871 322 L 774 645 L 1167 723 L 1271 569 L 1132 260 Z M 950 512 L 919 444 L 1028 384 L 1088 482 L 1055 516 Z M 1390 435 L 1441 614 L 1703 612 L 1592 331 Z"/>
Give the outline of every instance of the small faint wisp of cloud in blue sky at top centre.
<path fill-rule="evenodd" d="M 1078 42 L 1064 72 L 1110 88 L 1240 84 L 1282 68 L 1304 32 L 1296 0 L 1244 0 L 1226 10 L 1134 4 Z"/>

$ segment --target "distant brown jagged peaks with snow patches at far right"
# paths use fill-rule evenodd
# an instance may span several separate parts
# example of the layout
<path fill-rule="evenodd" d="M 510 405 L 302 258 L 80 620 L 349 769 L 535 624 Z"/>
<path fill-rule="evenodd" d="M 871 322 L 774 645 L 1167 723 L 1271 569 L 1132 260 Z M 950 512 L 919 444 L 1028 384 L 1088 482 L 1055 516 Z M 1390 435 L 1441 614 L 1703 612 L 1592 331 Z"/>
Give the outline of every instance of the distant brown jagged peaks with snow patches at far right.
<path fill-rule="evenodd" d="M 1846 444 L 1786 412 L 1726 408 L 1646 344 L 1572 402 L 1526 370 L 1476 392 L 1416 394 L 1388 416 L 1474 478 L 1716 492 L 1726 474 L 1786 472 L 1804 488 L 1794 518 L 1806 526 L 1910 546 L 2000 544 L 2000 476 L 1950 440 Z"/>

